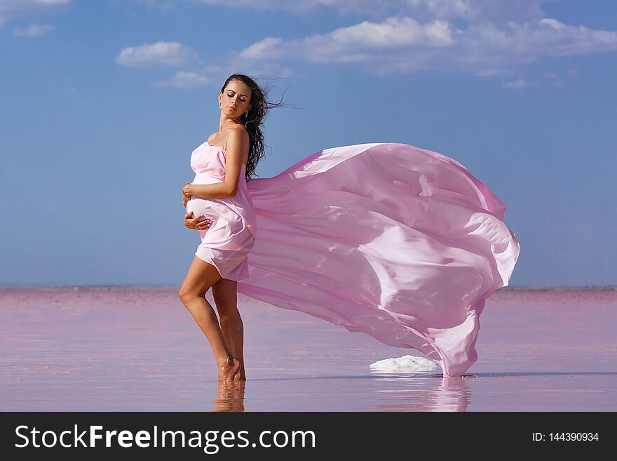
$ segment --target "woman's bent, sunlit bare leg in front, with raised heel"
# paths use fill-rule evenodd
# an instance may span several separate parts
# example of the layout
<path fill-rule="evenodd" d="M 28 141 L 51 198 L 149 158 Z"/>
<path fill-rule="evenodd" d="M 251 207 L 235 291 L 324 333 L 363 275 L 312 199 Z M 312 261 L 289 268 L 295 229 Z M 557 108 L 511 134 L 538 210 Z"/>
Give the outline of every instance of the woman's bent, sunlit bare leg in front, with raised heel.
<path fill-rule="evenodd" d="M 240 369 L 240 361 L 233 357 L 226 345 L 217 314 L 205 299 L 205 293 L 220 278 L 216 267 L 195 256 L 179 290 L 182 304 L 189 309 L 212 346 L 219 368 L 219 381 L 233 380 Z"/>

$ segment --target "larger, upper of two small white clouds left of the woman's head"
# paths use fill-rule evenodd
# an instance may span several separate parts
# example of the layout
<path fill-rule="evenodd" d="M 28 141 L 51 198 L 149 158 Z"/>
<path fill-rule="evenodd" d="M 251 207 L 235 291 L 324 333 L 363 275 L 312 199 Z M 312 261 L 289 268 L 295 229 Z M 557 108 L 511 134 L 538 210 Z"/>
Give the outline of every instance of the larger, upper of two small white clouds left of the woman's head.
<path fill-rule="evenodd" d="M 123 48 L 116 56 L 116 64 L 126 67 L 181 67 L 194 64 L 199 54 L 188 46 L 170 41 Z"/>

